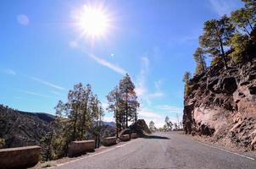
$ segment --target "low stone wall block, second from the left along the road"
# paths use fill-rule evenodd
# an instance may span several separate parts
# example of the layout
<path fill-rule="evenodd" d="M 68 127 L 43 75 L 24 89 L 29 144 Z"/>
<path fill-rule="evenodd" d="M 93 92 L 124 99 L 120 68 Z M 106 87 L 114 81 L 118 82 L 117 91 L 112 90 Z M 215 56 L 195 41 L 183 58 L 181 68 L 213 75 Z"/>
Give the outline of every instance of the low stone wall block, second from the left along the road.
<path fill-rule="evenodd" d="M 72 141 L 69 144 L 68 156 L 78 156 L 86 154 L 86 151 L 93 151 L 95 149 L 94 140 Z"/>

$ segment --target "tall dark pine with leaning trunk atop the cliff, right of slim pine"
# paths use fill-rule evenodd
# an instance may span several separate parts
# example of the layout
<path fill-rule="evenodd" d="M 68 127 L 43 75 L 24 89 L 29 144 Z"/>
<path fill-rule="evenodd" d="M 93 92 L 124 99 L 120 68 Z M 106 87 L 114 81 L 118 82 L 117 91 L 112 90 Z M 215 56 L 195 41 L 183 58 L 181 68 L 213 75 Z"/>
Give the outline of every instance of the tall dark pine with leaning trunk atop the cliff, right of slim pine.
<path fill-rule="evenodd" d="M 204 51 L 209 52 L 211 57 L 221 57 L 225 69 L 227 69 L 227 58 L 225 49 L 230 46 L 231 36 L 235 28 L 231 20 L 224 15 L 221 19 L 211 19 L 204 22 L 203 35 L 200 36 L 200 45 Z"/>

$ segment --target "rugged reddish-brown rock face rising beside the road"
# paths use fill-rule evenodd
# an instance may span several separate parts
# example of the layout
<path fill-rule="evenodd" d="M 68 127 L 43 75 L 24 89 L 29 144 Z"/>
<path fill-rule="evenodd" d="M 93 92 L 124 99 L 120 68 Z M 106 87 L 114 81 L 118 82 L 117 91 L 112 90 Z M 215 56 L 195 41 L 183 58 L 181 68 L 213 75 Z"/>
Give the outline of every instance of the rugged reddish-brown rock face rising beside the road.
<path fill-rule="evenodd" d="M 220 64 L 208 68 L 190 80 L 189 89 L 183 112 L 186 134 L 248 148 L 256 143 L 255 58 L 227 70 Z"/>

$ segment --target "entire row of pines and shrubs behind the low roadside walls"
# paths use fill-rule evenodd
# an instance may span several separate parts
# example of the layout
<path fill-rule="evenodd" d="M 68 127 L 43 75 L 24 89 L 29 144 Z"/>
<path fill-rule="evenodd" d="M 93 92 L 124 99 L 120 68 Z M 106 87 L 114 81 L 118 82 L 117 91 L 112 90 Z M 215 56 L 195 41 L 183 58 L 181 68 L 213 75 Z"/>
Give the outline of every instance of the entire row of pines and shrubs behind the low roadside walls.
<path fill-rule="evenodd" d="M 107 99 L 107 110 L 114 113 L 115 136 L 118 137 L 122 129 L 128 128 L 128 123 L 137 120 L 139 103 L 135 85 L 128 74 L 109 92 Z M 42 161 L 66 156 L 71 141 L 94 139 L 95 148 L 98 148 L 103 137 L 114 136 L 101 135 L 103 106 L 93 93 L 91 85 L 75 85 L 68 93 L 68 101 L 58 101 L 55 110 L 56 118 L 51 123 L 51 131 L 41 140 Z"/>

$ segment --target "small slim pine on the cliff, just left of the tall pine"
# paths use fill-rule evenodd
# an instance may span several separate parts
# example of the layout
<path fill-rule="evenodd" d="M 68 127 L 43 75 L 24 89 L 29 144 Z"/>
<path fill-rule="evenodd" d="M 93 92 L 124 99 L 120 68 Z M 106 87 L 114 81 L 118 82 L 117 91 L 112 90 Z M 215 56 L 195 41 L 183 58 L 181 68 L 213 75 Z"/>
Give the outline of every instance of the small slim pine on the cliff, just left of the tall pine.
<path fill-rule="evenodd" d="M 205 56 L 204 56 L 203 49 L 201 47 L 198 47 L 193 56 L 197 63 L 196 74 L 203 73 L 206 68 Z"/>

